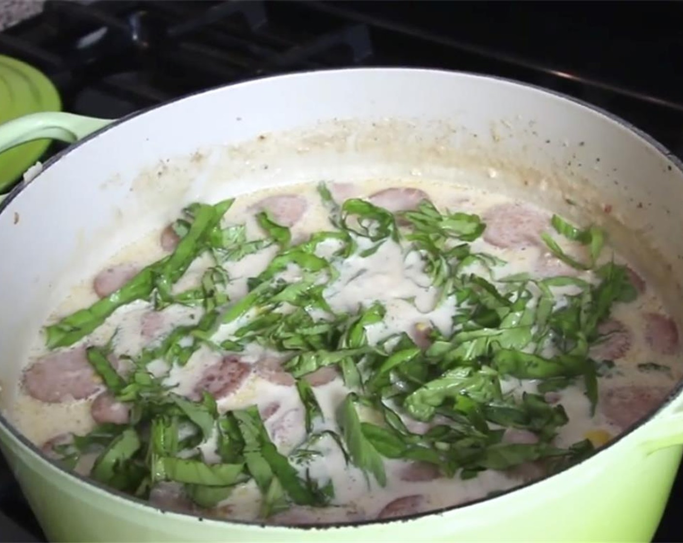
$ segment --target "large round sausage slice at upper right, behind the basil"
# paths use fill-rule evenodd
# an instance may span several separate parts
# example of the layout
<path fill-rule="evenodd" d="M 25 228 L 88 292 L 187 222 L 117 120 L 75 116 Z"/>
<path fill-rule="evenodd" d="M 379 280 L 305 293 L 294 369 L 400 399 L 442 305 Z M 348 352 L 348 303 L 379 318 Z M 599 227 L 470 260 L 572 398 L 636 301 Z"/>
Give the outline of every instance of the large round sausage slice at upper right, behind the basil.
<path fill-rule="evenodd" d="M 498 204 L 484 212 L 484 240 L 503 248 L 541 245 L 540 235 L 550 225 L 548 214 L 526 204 Z"/>

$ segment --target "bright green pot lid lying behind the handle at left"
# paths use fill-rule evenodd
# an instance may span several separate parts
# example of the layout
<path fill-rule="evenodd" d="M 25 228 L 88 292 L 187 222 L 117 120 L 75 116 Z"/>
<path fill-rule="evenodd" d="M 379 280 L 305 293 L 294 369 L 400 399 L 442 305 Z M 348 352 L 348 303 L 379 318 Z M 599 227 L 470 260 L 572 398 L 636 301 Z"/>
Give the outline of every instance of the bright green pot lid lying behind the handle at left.
<path fill-rule="evenodd" d="M 40 111 L 61 111 L 55 85 L 33 66 L 0 55 L 0 124 Z M 30 141 L 0 154 L 0 191 L 8 190 L 36 163 L 50 141 Z"/>

